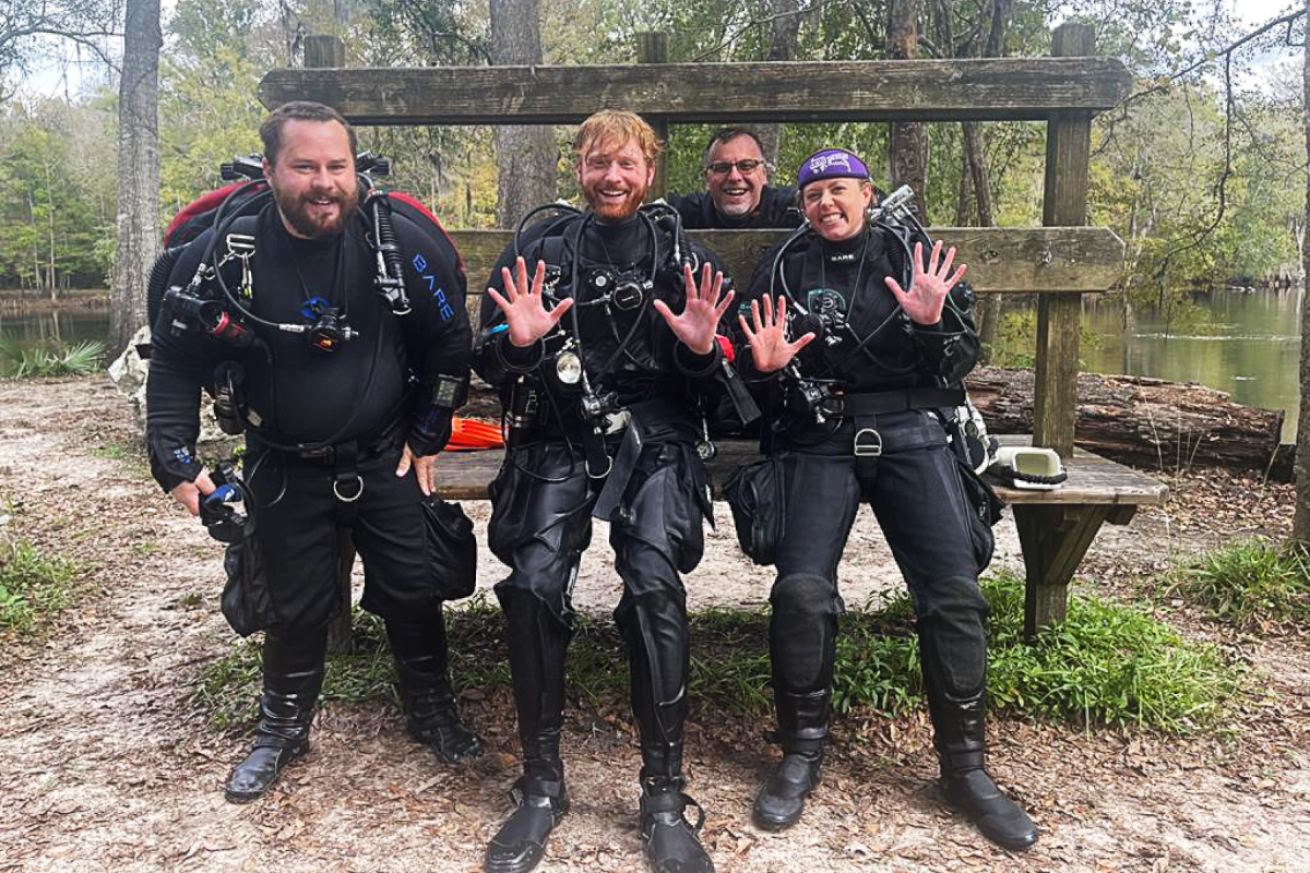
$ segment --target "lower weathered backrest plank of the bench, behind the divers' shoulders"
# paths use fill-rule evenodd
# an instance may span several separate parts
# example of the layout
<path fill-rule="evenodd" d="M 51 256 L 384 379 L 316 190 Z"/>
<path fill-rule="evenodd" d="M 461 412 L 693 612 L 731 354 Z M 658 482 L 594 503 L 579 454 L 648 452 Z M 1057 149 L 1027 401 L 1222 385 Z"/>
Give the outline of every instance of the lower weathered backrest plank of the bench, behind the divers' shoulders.
<path fill-rule="evenodd" d="M 969 265 L 969 283 L 981 292 L 1068 294 L 1104 291 L 1120 275 L 1124 244 L 1114 231 L 1078 228 L 931 228 L 934 239 L 959 249 L 956 262 Z M 469 292 L 481 294 L 510 231 L 452 231 L 469 273 Z M 723 258 L 739 286 L 745 286 L 778 231 L 692 231 Z"/>

